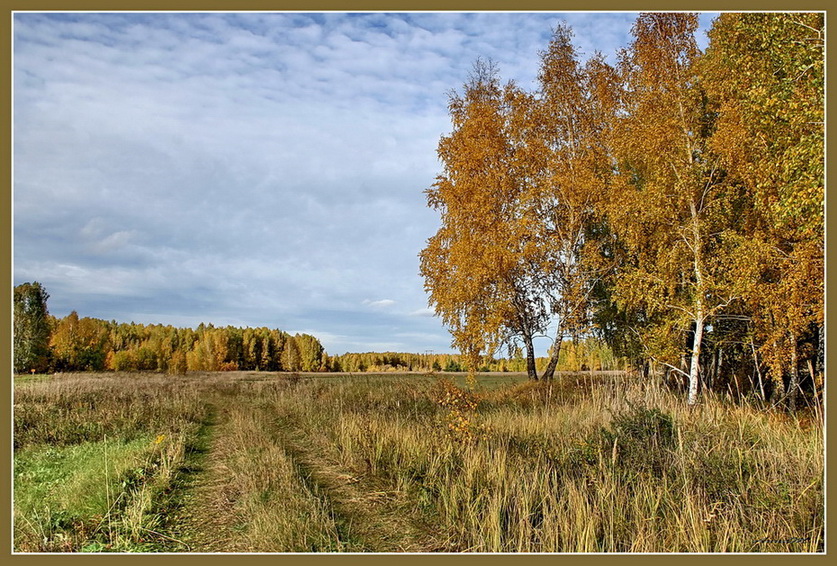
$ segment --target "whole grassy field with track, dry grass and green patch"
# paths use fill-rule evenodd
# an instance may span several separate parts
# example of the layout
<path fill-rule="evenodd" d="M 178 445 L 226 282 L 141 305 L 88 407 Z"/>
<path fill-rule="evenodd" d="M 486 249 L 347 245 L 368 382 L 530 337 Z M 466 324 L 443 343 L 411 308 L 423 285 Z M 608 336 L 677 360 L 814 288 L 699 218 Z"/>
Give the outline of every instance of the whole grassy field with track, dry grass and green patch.
<path fill-rule="evenodd" d="M 17 378 L 18 552 L 822 552 L 823 428 L 621 374 Z"/>

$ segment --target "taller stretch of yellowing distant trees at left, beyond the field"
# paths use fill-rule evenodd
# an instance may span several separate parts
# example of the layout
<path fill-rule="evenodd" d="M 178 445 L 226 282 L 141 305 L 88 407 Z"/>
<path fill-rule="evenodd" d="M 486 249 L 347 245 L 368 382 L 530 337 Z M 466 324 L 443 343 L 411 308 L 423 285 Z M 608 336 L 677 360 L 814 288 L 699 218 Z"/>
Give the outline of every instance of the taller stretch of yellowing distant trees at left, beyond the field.
<path fill-rule="evenodd" d="M 277 329 L 196 329 L 162 324 L 56 318 L 38 283 L 14 290 L 14 369 L 29 371 L 328 371 L 330 358 L 309 334 Z"/>

